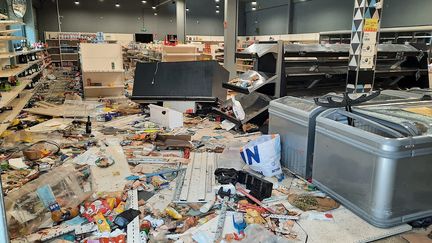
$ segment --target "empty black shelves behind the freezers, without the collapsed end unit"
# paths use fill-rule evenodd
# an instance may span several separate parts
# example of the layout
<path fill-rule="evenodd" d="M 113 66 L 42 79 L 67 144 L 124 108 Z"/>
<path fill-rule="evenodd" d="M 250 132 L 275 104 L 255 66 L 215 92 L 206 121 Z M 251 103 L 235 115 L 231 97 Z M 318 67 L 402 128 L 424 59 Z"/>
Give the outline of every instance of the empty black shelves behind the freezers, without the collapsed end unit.
<path fill-rule="evenodd" d="M 287 93 L 298 96 L 344 91 L 348 44 L 285 45 Z M 375 89 L 427 88 L 428 48 L 424 44 L 379 44 Z"/>

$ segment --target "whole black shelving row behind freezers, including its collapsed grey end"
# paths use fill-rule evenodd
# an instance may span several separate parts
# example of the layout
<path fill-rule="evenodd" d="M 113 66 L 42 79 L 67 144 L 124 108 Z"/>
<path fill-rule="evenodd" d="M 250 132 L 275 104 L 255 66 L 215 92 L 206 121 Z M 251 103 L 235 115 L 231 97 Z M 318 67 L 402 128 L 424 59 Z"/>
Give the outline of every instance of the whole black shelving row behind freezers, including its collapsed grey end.
<path fill-rule="evenodd" d="M 238 120 L 218 113 L 241 125 L 257 117 L 264 121 L 270 101 L 287 94 L 314 97 L 343 92 L 349 48 L 348 44 L 253 44 L 237 57 L 254 58 L 254 70 L 223 84 L 239 93 L 236 100 L 242 104 L 246 118 Z M 428 48 L 421 44 L 378 45 L 374 85 L 378 89 L 428 88 Z M 223 103 L 230 104 L 231 100 Z"/>

